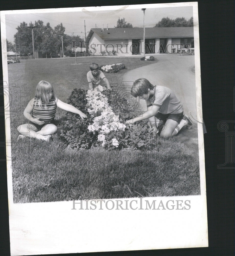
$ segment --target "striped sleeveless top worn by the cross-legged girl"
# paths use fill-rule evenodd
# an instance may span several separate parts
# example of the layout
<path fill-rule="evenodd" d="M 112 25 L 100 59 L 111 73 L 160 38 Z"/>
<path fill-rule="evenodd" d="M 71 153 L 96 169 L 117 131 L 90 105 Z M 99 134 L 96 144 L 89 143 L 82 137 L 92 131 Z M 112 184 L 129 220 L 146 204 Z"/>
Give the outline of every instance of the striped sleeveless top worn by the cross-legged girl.
<path fill-rule="evenodd" d="M 35 97 L 33 101 L 32 117 L 39 118 L 39 120 L 44 121 L 45 124 L 53 123 L 56 109 L 57 105 L 54 98 L 49 100 L 47 106 L 43 103 L 42 106 L 39 106 L 37 98 Z"/>

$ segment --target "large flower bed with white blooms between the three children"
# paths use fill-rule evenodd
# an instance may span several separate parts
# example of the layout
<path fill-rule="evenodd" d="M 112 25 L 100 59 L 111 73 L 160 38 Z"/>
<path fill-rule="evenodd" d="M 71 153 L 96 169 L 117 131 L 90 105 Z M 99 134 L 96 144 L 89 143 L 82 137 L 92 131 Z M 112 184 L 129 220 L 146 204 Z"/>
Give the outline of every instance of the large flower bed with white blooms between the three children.
<path fill-rule="evenodd" d="M 125 125 L 125 121 L 133 116 L 127 110 L 121 111 L 113 106 L 120 95 L 113 97 L 102 86 L 94 90 L 74 89 L 68 103 L 82 112 L 87 118 L 67 113 L 66 120 L 58 126 L 59 135 L 68 148 L 89 149 L 102 146 L 106 149 L 132 147 L 133 149 L 149 149 L 156 145 L 156 140 L 149 136 L 151 129 L 147 122 L 136 125 Z M 126 99 L 122 99 L 127 104 Z M 129 108 L 130 109 L 130 108 Z"/>

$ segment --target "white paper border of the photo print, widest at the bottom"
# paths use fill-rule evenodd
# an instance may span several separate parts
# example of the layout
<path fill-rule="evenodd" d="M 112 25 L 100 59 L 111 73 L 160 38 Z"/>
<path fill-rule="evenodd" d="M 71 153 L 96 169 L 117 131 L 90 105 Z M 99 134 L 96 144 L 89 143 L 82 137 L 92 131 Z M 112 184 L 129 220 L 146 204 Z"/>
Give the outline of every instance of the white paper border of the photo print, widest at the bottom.
<path fill-rule="evenodd" d="M 208 247 L 197 2 L 1 11 L 2 52 L 6 52 L 6 14 L 173 6 L 193 6 L 197 120 L 201 123 L 198 125 L 201 194 L 199 196 L 144 198 L 149 201 L 162 201 L 164 205 L 169 200 L 190 201 L 190 209 L 183 211 L 139 209 L 128 211 L 96 209 L 92 211 L 79 210 L 79 207 L 77 210 L 72 210 L 73 201 L 13 204 L 11 142 L 10 129 L 8 129 L 10 118 L 9 105 L 6 105 L 5 128 L 11 255 Z M 7 90 L 6 54 L 2 55 L 2 63 L 4 90 Z M 6 103 L 8 100 L 6 93 L 4 102 Z M 131 198 L 131 200 L 137 200 L 139 206 L 139 198 Z"/>

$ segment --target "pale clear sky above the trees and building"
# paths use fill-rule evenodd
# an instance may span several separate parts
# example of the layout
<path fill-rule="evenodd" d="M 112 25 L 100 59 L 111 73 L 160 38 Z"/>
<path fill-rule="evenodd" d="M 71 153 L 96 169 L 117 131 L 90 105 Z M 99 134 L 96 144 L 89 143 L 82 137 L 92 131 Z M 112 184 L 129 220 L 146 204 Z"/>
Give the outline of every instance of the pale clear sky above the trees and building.
<path fill-rule="evenodd" d="M 152 6 L 152 5 L 151 5 Z M 157 8 L 155 8 L 155 6 Z M 145 26 L 154 27 L 163 17 L 169 17 L 170 19 L 175 19 L 177 17 L 184 17 L 186 20 L 193 16 L 192 6 L 174 6 L 174 7 L 158 7 L 159 5 L 154 5 L 154 8 L 146 8 L 148 5 L 143 6 L 145 10 Z M 54 28 L 58 24 L 62 23 L 65 27 L 65 34 L 68 35 L 79 35 L 81 38 L 85 38 L 91 28 L 114 28 L 117 25 L 118 18 L 125 18 L 127 23 L 131 23 L 133 27 L 143 27 L 143 11 L 140 8 L 133 8 L 135 6 L 129 6 L 128 9 L 125 6 L 118 6 L 117 9 L 107 10 L 109 8 L 102 7 L 103 10 L 91 11 L 88 8 L 80 8 L 79 10 L 75 8 L 69 9 L 55 9 L 53 12 L 48 12 L 51 9 L 44 10 L 32 10 L 29 13 L 23 13 L 23 11 L 18 11 L 14 14 L 6 14 L 6 38 L 7 40 L 14 42 L 14 35 L 17 33 L 17 26 L 22 22 L 29 24 L 34 23 L 37 20 L 42 20 L 44 25 L 48 22 L 50 26 Z M 81 10 L 82 9 L 82 10 Z M 60 10 L 58 12 L 58 10 Z M 66 11 L 66 10 L 69 10 Z M 46 11 L 46 12 L 45 12 Z M 56 11 L 56 12 L 55 12 Z M 84 27 L 84 20 L 85 25 Z"/>

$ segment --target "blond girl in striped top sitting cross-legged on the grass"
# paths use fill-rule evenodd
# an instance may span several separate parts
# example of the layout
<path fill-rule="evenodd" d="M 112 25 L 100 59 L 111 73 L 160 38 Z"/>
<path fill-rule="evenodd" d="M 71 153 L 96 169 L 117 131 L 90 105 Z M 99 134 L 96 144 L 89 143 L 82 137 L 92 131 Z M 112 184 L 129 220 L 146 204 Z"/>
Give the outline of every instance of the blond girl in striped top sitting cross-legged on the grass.
<path fill-rule="evenodd" d="M 87 116 L 74 106 L 59 100 L 49 82 L 40 81 L 36 87 L 35 98 L 31 99 L 24 110 L 24 116 L 30 123 L 18 126 L 18 140 L 25 136 L 49 142 L 51 135 L 57 132 L 54 117 L 57 106 L 63 110 Z M 31 115 L 32 114 L 32 115 Z"/>

